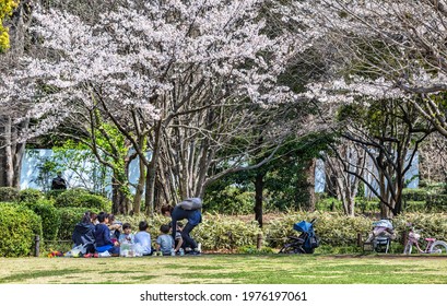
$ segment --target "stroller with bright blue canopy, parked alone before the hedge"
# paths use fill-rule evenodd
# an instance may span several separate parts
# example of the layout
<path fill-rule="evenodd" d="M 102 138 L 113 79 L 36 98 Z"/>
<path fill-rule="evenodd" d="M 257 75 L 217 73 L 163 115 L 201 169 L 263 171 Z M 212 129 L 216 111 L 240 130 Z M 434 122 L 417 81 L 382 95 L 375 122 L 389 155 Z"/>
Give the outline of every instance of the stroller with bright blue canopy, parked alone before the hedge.
<path fill-rule="evenodd" d="M 314 232 L 315 219 L 310 222 L 302 221 L 293 225 L 293 229 L 301 232 L 299 236 L 289 236 L 289 240 L 281 248 L 280 254 L 313 254 L 319 240 Z"/>

